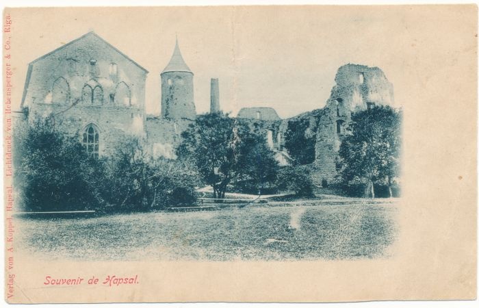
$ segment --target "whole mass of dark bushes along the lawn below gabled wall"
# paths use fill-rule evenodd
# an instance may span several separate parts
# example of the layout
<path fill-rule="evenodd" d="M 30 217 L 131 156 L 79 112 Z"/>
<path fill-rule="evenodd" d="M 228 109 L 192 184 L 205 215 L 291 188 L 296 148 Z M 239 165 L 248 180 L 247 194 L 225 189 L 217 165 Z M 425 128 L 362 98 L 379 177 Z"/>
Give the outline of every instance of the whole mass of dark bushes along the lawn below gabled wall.
<path fill-rule="evenodd" d="M 145 211 L 196 202 L 196 172 L 182 162 L 152 160 L 138 138 L 98 159 L 78 136 L 38 120 L 16 130 L 14 146 L 14 180 L 27 211 Z"/>

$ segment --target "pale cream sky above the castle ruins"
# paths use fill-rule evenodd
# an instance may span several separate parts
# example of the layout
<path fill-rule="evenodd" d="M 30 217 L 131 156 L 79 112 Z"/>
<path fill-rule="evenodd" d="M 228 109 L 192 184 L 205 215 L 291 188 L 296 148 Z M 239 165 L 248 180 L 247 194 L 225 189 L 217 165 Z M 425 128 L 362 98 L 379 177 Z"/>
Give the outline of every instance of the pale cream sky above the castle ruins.
<path fill-rule="evenodd" d="M 348 63 L 383 69 L 400 104 L 398 81 L 411 60 L 403 44 L 413 40 L 406 18 L 381 7 L 341 6 L 18 9 L 11 32 L 14 104 L 29 62 L 92 30 L 149 71 L 149 114 L 159 114 L 159 73 L 175 36 L 194 73 L 198 114 L 209 110 L 211 78 L 219 79 L 225 112 L 263 106 L 286 118 L 323 107 L 337 69 Z"/>

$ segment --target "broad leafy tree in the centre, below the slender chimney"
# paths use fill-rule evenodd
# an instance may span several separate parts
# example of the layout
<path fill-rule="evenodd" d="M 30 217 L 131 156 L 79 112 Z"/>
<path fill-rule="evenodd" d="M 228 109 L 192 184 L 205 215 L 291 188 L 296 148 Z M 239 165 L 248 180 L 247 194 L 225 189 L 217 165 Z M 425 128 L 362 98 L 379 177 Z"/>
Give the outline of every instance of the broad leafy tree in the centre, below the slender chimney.
<path fill-rule="evenodd" d="M 203 181 L 213 188 L 214 198 L 224 198 L 228 185 L 235 181 L 258 179 L 262 183 L 275 177 L 278 165 L 264 145 L 265 138 L 237 119 L 221 113 L 198 116 L 181 136 L 177 156 L 196 166 Z"/>

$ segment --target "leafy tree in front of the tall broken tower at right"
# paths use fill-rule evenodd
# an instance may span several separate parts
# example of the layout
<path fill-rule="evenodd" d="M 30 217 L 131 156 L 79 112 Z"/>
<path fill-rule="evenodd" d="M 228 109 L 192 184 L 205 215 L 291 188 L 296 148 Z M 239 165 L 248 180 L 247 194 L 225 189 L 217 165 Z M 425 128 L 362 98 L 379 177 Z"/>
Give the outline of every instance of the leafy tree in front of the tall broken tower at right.
<path fill-rule="evenodd" d="M 374 184 L 398 175 L 401 115 L 389 106 L 371 107 L 352 114 L 339 148 L 338 167 L 345 183 L 362 183 L 365 195 L 374 198 Z"/>

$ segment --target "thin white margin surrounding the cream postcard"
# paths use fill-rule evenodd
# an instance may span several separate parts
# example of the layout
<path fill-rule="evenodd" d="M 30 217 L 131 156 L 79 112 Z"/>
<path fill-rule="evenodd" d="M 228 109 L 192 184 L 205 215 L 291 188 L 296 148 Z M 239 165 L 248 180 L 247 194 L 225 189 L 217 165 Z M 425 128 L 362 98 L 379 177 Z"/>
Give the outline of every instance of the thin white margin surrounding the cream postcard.
<path fill-rule="evenodd" d="M 173 5 L 188 5 L 188 6 L 201 6 L 201 5 L 300 5 L 300 4 L 322 4 L 322 5 L 404 5 L 404 4 L 460 4 L 460 3 L 476 3 L 478 5 L 478 0 L 475 1 L 443 1 L 443 0 L 422 0 L 422 1 L 346 1 L 346 0 L 335 0 L 335 1 L 318 1 L 318 0 L 115 0 L 115 1 L 106 1 L 106 0 L 73 0 L 73 1 L 60 1 L 60 0 L 5 0 L 0 4 L 2 12 L 5 7 L 51 7 L 51 6 L 173 6 Z M 1 41 L 3 42 L 3 32 L 0 35 Z M 479 31 L 478 31 L 479 33 Z M 3 71 L 3 66 L 2 66 Z M 0 74 L 0 80 L 3 85 L 3 74 Z M 479 95 L 478 95 L 479 97 Z M 2 89 L 2 103 L 3 103 L 3 89 Z M 2 108 L 3 110 L 3 108 Z M 3 114 L 1 116 L 2 127 L 3 127 Z M 479 110 L 478 110 L 479 118 Z M 1 133 L 1 140 L 3 145 L 3 129 Z M 479 130 L 478 130 L 478 140 L 479 140 Z M 3 146 L 0 147 L 0 155 L 3 159 Z M 478 157 L 479 161 L 479 151 Z M 3 162 L 0 164 L 0 172 L 2 177 L 0 179 L 1 187 L 0 190 L 0 200 L 3 200 Z M 479 190 L 479 184 L 478 184 Z M 0 210 L 0 219 L 3 222 L 3 209 Z M 3 227 L 1 229 L 1 238 L 4 238 Z M 4 263 L 4 243 L 3 240 L 0 241 L 0 261 L 1 261 L 1 272 L 2 272 L 2 285 L 3 283 L 3 264 Z M 479 262 L 478 262 L 479 264 Z M 479 283 L 478 283 L 479 285 Z M 5 291 L 1 298 L 4 297 Z M 477 296 L 477 294 L 476 294 Z M 1 304 L 5 305 L 3 299 Z M 1 305 L 0 304 L 0 305 Z M 107 305 L 107 306 L 105 306 Z M 146 307 L 146 305 L 151 304 L 61 304 L 61 307 Z M 353 308 L 365 308 L 365 307 L 479 307 L 479 301 L 476 300 L 448 300 L 448 301 L 388 301 L 388 302 L 363 302 L 363 303 L 318 303 L 318 304 L 279 304 L 279 303 L 269 303 L 269 304 L 249 304 L 249 303 L 165 303 L 165 304 L 153 304 L 159 307 L 170 307 L 170 308 L 179 308 L 179 307 L 198 307 L 198 308 L 218 308 L 218 307 L 231 307 L 231 308 L 246 308 L 246 307 L 281 307 L 281 308 L 298 308 L 298 307 L 332 307 L 332 308 L 341 308 L 341 307 L 353 307 Z M 31 307 L 31 305 L 15 305 L 15 307 Z M 35 305 L 35 307 L 60 307 L 60 305 Z"/>

